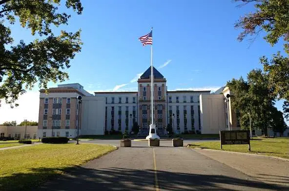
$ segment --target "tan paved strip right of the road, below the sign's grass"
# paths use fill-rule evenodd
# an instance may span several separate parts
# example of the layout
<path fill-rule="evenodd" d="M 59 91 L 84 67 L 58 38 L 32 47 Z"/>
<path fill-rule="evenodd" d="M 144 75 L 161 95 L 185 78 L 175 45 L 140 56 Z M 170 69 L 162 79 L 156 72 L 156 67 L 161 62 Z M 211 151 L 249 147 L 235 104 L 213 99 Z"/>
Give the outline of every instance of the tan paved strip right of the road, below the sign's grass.
<path fill-rule="evenodd" d="M 289 186 L 289 161 L 262 155 L 192 149 L 268 184 Z"/>

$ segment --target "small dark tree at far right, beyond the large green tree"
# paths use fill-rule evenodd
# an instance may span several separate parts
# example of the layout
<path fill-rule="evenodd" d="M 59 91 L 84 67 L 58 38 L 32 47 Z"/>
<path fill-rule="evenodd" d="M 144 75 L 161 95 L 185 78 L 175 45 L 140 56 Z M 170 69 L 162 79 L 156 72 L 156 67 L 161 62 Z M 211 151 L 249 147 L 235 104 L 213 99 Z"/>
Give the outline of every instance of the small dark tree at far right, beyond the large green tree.
<path fill-rule="evenodd" d="M 273 132 L 279 133 L 279 136 L 281 136 L 287 129 L 287 125 L 283 118 L 283 113 L 276 109 L 272 111 L 272 115 L 273 118 L 270 121 L 270 127 L 272 128 Z"/>

